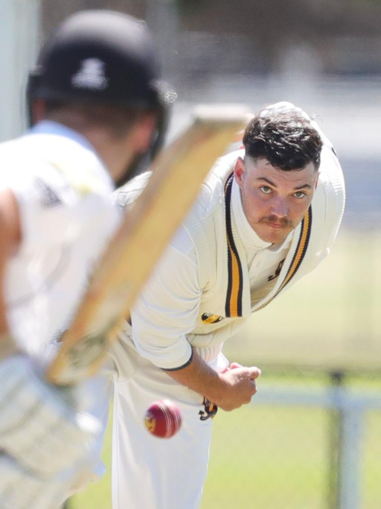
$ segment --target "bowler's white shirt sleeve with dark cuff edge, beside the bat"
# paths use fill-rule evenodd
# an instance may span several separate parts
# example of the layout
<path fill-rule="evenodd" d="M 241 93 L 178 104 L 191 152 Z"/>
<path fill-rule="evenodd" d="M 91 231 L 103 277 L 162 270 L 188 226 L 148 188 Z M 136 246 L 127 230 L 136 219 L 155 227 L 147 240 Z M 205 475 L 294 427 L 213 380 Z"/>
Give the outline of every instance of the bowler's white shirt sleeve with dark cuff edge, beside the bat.
<path fill-rule="evenodd" d="M 181 228 L 131 310 L 140 355 L 165 370 L 187 365 L 192 347 L 186 334 L 195 328 L 200 299 L 196 252 Z"/>

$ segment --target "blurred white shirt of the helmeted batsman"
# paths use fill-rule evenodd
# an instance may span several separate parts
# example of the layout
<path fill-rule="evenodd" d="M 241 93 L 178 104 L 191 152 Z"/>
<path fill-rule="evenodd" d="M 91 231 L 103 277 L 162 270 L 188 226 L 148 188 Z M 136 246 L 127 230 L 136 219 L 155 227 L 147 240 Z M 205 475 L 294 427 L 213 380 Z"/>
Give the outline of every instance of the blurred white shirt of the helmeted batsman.
<path fill-rule="evenodd" d="M 0 145 L 0 160 L 22 231 L 5 275 L 8 322 L 19 346 L 39 357 L 68 328 L 120 213 L 104 164 L 71 129 L 44 121 Z"/>

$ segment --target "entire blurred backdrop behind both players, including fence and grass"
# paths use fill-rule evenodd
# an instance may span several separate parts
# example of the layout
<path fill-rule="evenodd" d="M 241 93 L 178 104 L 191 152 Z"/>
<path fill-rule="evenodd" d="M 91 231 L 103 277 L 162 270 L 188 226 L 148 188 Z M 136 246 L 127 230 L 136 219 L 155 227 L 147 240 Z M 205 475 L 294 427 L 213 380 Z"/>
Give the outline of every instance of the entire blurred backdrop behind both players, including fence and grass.
<path fill-rule="evenodd" d="M 202 507 L 379 509 L 381 2 L 0 4 L 1 139 L 25 127 L 20 94 L 39 44 L 67 15 L 91 8 L 146 21 L 178 94 L 168 139 L 198 103 L 245 103 L 255 111 L 283 100 L 316 117 L 344 171 L 342 228 L 331 256 L 226 344 L 231 360 L 259 365 L 263 374 L 252 405 L 215 418 Z M 109 509 L 109 475 L 70 507 Z"/>

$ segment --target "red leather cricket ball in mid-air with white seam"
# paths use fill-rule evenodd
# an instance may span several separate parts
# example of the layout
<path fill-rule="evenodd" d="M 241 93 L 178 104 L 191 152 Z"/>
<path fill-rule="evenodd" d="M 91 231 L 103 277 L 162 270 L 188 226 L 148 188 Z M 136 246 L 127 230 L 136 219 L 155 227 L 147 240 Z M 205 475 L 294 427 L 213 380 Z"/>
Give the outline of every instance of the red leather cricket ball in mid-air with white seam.
<path fill-rule="evenodd" d="M 144 414 L 144 425 L 155 437 L 171 438 L 181 427 L 181 412 L 170 400 L 154 401 Z"/>

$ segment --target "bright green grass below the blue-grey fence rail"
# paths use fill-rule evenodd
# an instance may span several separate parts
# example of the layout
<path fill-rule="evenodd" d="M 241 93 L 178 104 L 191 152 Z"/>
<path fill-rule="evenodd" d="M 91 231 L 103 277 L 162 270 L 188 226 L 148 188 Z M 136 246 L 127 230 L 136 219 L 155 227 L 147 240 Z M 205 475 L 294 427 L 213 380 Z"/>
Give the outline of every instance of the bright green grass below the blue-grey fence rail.
<path fill-rule="evenodd" d="M 380 389 L 380 380 L 373 385 Z M 219 411 L 202 509 L 328 509 L 331 418 L 319 408 L 250 405 Z M 361 509 L 379 509 L 380 429 L 381 412 L 369 412 L 361 443 Z M 110 445 L 108 433 L 103 455 L 107 475 L 74 497 L 71 509 L 111 509 Z"/>

